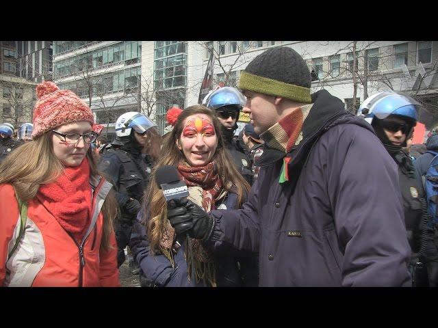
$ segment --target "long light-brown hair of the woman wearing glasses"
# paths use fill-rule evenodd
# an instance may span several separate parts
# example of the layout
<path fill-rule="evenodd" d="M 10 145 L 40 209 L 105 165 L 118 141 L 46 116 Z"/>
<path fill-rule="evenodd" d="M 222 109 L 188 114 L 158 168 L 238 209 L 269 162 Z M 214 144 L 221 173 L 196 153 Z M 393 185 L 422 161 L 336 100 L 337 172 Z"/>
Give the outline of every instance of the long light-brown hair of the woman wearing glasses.
<path fill-rule="evenodd" d="M 90 174 L 100 175 L 91 147 L 87 152 Z M 56 180 L 64 172 L 64 166 L 53 152 L 51 133 L 44 133 L 37 139 L 24 143 L 6 156 L 0 165 L 0 184 L 11 184 L 18 197 L 27 202 L 33 199 L 40 184 Z M 113 221 L 118 210 L 114 191 L 105 198 L 102 206 L 103 235 L 101 246 L 105 251 L 110 248 L 110 235 Z"/>

